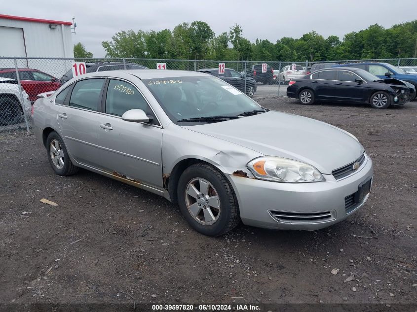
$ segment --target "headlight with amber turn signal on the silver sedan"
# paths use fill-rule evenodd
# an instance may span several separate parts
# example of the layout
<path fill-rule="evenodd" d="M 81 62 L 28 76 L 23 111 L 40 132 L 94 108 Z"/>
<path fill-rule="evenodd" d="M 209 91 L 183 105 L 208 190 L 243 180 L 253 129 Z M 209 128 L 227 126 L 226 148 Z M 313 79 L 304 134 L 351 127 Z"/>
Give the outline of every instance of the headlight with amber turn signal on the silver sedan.
<path fill-rule="evenodd" d="M 255 177 L 261 180 L 286 183 L 325 180 L 323 175 L 313 166 L 288 158 L 259 157 L 250 161 L 247 167 Z"/>

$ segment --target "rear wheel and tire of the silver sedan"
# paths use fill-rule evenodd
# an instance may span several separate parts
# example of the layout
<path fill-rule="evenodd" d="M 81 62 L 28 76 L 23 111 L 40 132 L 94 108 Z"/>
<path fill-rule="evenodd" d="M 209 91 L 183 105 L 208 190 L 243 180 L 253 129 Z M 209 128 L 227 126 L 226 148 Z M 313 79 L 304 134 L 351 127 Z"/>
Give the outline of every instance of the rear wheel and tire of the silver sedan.
<path fill-rule="evenodd" d="M 52 131 L 46 139 L 46 152 L 49 164 L 56 174 L 72 175 L 78 172 L 79 168 L 71 162 L 64 141 L 55 131 Z"/>

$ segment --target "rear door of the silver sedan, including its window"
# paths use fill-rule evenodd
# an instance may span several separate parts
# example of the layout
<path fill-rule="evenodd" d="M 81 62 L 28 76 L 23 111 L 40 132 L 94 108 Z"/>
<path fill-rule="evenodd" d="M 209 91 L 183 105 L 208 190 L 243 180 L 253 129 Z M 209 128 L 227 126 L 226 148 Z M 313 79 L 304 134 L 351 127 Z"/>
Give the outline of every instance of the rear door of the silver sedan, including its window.
<path fill-rule="evenodd" d="M 94 168 L 102 168 L 102 160 L 98 157 L 97 122 L 104 82 L 105 78 L 76 82 L 58 114 L 68 152 L 76 162 Z"/>

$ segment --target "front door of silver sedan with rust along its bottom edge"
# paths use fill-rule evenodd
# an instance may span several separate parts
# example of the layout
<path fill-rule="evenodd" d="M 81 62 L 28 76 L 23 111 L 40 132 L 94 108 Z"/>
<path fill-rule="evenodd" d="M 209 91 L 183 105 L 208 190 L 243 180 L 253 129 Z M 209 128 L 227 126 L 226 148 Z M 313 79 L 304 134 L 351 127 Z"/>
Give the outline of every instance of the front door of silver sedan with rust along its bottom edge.
<path fill-rule="evenodd" d="M 98 144 L 105 170 L 115 176 L 162 188 L 162 133 L 152 109 L 139 90 L 124 80 L 109 79 L 102 113 L 98 116 Z M 121 119 L 139 108 L 153 117 L 137 123 Z"/>

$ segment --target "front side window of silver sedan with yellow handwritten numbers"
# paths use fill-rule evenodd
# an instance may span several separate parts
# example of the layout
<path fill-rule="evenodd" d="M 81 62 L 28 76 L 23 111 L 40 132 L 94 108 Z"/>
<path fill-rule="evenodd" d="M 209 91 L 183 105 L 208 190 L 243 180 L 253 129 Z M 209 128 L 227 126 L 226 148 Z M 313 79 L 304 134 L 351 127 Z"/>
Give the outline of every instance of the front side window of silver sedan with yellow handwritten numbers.
<path fill-rule="evenodd" d="M 139 108 L 149 113 L 148 103 L 130 83 L 111 79 L 107 88 L 106 113 L 121 116 L 125 111 Z"/>

